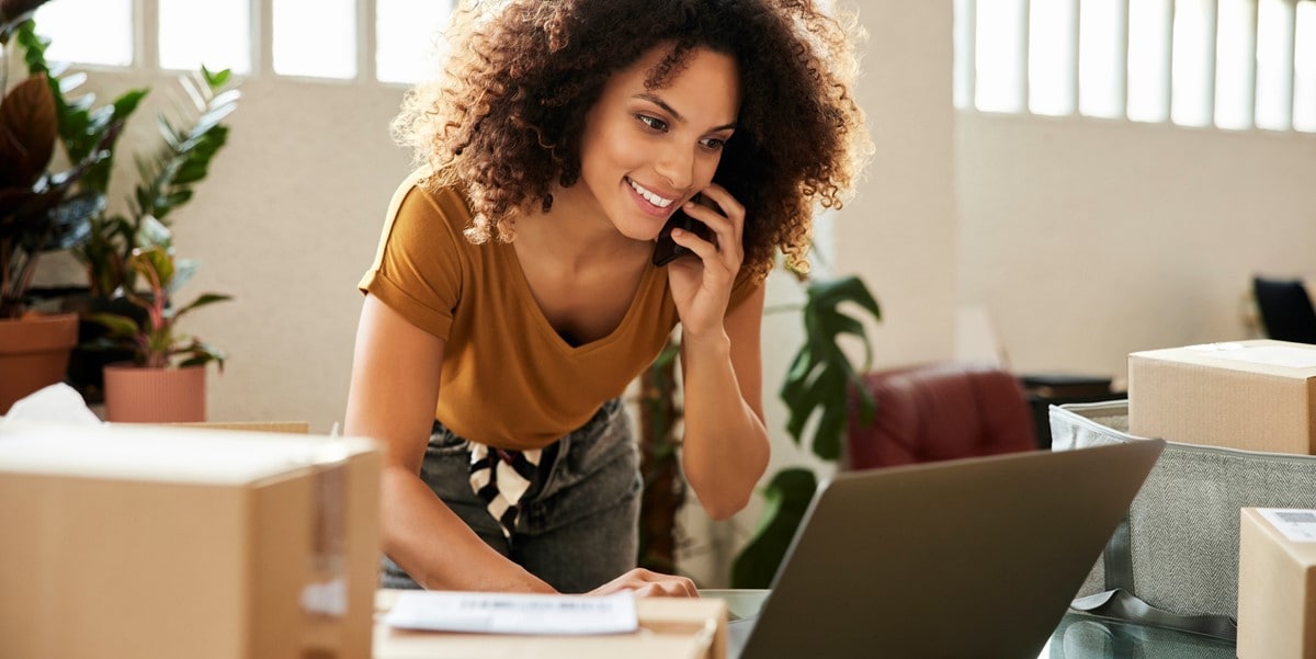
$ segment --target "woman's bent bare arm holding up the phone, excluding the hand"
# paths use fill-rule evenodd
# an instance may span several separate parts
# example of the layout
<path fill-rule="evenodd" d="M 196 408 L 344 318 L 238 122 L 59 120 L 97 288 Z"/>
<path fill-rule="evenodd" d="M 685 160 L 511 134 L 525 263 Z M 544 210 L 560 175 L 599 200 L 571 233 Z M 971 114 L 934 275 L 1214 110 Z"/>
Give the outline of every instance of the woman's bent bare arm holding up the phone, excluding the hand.
<path fill-rule="evenodd" d="M 725 331 L 682 334 L 686 480 L 715 520 L 740 512 L 767 468 L 759 335 L 763 287 L 726 314 Z"/>

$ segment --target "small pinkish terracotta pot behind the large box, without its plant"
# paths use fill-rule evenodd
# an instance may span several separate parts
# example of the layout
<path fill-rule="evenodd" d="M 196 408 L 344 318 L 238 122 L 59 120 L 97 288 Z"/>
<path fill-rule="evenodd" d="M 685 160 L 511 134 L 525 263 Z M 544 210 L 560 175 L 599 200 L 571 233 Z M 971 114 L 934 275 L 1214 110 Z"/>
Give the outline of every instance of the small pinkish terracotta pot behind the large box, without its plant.
<path fill-rule="evenodd" d="M 205 421 L 205 367 L 105 367 L 105 421 L 175 424 Z"/>

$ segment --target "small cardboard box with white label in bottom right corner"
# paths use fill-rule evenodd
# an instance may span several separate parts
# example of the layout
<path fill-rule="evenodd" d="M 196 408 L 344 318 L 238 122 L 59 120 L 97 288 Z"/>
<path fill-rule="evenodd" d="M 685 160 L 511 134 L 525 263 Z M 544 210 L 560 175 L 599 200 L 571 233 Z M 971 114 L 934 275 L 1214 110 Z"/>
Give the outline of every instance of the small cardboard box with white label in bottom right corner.
<path fill-rule="evenodd" d="M 1238 659 L 1316 659 L 1316 534 L 1290 538 L 1257 508 L 1240 525 Z"/>

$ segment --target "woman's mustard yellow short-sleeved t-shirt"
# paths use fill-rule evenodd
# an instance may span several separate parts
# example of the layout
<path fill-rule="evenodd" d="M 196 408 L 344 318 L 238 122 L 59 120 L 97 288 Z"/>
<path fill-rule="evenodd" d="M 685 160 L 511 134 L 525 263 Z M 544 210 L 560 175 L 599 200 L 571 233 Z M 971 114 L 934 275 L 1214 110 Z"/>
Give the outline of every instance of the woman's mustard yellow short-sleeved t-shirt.
<path fill-rule="evenodd" d="M 471 224 L 466 199 L 420 187 L 421 174 L 393 195 L 359 288 L 446 342 L 443 363 L 434 364 L 434 418 L 499 449 L 547 446 L 583 426 L 658 356 L 679 320 L 667 275 L 647 266 L 612 334 L 571 346 L 540 310 L 512 245 L 470 243 L 462 235 Z M 754 287 L 742 272 L 729 306 Z"/>

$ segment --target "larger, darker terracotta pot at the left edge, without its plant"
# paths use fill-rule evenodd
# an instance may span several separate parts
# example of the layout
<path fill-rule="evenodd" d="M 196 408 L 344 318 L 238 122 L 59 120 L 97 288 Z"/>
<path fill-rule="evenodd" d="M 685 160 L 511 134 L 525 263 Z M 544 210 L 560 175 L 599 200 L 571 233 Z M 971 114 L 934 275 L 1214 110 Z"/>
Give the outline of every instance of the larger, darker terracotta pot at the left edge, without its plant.
<path fill-rule="evenodd" d="M 63 381 L 76 343 L 76 313 L 0 320 L 0 414 L 13 401 Z"/>

